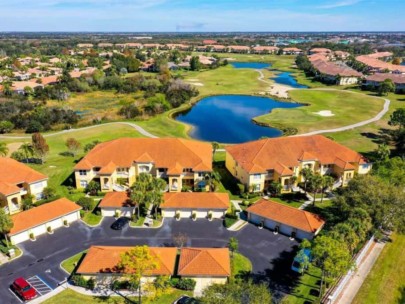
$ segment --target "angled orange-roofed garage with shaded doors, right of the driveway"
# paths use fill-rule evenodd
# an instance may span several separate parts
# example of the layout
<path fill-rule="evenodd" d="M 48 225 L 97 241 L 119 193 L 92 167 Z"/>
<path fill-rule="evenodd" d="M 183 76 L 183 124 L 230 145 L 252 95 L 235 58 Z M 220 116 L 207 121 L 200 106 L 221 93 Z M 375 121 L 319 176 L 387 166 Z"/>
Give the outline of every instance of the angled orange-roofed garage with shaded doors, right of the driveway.
<path fill-rule="evenodd" d="M 312 240 L 325 225 L 314 213 L 266 199 L 254 203 L 246 212 L 250 222 L 301 240 Z"/>

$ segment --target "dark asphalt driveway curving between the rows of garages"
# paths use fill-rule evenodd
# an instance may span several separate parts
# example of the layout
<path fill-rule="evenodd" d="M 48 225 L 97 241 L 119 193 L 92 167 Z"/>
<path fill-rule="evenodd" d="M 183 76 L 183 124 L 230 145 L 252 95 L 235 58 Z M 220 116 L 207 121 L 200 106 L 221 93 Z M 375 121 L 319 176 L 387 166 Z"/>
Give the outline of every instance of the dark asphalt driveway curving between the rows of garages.
<path fill-rule="evenodd" d="M 60 263 L 91 245 L 174 246 L 173 236 L 180 232 L 188 237 L 187 247 L 225 247 L 230 237 L 236 237 L 239 240 L 239 251 L 252 261 L 254 276 L 268 281 L 276 290 L 288 290 L 288 282 L 283 282 L 282 276 L 289 270 L 298 243 L 286 236 L 274 235 L 266 229 L 259 230 L 252 224 L 240 231 L 230 232 L 220 220 L 209 222 L 199 219 L 194 222 L 191 219 L 165 219 L 161 228 L 127 226 L 121 231 L 110 228 L 113 221 L 113 218 L 106 217 L 95 228 L 78 221 L 69 228 L 62 227 L 51 235 L 40 236 L 35 242 L 20 244 L 23 256 L 0 266 L 1 303 L 18 303 L 8 290 L 17 277 L 37 275 L 50 287 L 57 287 L 69 276 L 59 267 Z"/>

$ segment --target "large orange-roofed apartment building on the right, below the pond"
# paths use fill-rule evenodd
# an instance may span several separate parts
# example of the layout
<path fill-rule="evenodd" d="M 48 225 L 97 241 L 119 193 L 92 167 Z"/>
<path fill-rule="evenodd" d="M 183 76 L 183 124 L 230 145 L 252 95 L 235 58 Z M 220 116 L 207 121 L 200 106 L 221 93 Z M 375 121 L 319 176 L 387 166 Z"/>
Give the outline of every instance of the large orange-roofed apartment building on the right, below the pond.
<path fill-rule="evenodd" d="M 280 183 L 283 191 L 291 191 L 303 181 L 303 168 L 336 176 L 342 186 L 355 173 L 371 170 L 371 163 L 362 155 L 321 135 L 261 139 L 225 150 L 228 171 L 255 192 L 267 190 L 272 182 Z"/>

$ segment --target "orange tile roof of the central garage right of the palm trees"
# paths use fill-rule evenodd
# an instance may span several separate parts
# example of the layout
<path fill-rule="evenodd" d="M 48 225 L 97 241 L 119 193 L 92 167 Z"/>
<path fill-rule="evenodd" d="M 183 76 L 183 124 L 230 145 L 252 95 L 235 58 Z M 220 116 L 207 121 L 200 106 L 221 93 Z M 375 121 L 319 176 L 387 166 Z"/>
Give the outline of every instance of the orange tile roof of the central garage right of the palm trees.
<path fill-rule="evenodd" d="M 228 193 L 166 192 L 162 209 L 223 209 L 229 208 Z"/>

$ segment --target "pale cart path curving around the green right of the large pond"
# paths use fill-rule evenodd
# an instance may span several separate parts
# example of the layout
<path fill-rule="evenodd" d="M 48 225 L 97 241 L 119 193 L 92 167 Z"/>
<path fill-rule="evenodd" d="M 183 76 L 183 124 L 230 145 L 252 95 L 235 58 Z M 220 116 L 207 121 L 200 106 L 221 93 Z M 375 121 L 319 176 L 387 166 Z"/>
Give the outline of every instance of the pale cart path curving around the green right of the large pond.
<path fill-rule="evenodd" d="M 256 70 L 260 75 L 257 78 L 257 80 L 267 83 L 267 84 L 273 84 L 267 80 L 264 79 L 264 74 L 261 70 Z M 290 90 L 295 90 L 295 88 L 291 88 Z M 342 90 L 338 90 L 338 89 L 329 89 L 329 88 L 313 88 L 313 89 L 306 89 L 306 90 L 315 90 L 315 91 L 337 91 L 337 92 L 341 92 Z M 344 91 L 344 92 L 348 92 L 351 94 L 361 94 L 364 95 L 362 93 L 359 92 L 353 92 L 353 91 Z M 293 135 L 293 136 L 310 136 L 310 135 L 317 135 L 317 134 L 323 134 L 323 133 L 335 133 L 335 132 L 342 132 L 342 131 L 347 131 L 347 130 L 351 130 L 354 128 L 358 128 L 358 127 L 362 127 L 365 125 L 368 125 L 372 122 L 376 122 L 379 121 L 388 111 L 390 108 L 390 103 L 391 101 L 388 98 L 382 98 L 382 97 L 376 97 L 376 98 L 381 98 L 384 100 L 384 106 L 383 109 L 373 118 L 367 119 L 367 120 L 363 120 L 360 122 L 357 122 L 355 124 L 351 124 L 348 126 L 343 126 L 343 127 L 339 127 L 339 128 L 334 128 L 334 129 L 328 129 L 328 130 L 317 130 L 317 131 L 312 131 L 312 132 L 308 132 L 308 133 L 303 133 L 303 134 L 297 134 L 297 135 Z"/>

